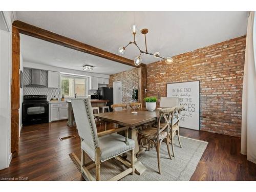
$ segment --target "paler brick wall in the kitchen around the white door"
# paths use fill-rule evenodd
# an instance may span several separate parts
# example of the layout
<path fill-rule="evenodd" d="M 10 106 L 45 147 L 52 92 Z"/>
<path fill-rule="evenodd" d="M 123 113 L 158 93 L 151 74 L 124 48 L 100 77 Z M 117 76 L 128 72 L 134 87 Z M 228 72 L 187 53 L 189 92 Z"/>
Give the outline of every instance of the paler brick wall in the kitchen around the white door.
<path fill-rule="evenodd" d="M 109 87 L 113 87 L 113 82 L 122 81 L 122 103 L 129 104 L 133 101 L 133 88 L 138 89 L 138 68 L 123 71 L 110 75 Z"/>

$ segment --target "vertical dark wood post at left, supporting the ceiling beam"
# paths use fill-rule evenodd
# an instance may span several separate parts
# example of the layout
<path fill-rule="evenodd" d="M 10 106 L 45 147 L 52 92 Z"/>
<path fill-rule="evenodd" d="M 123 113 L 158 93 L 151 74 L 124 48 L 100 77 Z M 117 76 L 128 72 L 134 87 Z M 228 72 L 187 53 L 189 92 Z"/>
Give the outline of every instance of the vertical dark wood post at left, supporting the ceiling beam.
<path fill-rule="evenodd" d="M 18 155 L 19 130 L 19 57 L 20 38 L 16 28 L 12 28 L 12 87 L 11 87 L 11 153 Z"/>

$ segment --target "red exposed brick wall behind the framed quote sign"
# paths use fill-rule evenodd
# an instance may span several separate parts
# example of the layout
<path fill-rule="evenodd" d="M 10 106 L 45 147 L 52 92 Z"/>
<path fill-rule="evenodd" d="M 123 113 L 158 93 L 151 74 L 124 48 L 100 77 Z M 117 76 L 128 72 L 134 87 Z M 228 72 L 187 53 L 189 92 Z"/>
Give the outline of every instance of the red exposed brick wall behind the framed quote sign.
<path fill-rule="evenodd" d="M 147 65 L 148 96 L 166 96 L 167 82 L 200 80 L 200 129 L 241 135 L 246 36 Z"/>

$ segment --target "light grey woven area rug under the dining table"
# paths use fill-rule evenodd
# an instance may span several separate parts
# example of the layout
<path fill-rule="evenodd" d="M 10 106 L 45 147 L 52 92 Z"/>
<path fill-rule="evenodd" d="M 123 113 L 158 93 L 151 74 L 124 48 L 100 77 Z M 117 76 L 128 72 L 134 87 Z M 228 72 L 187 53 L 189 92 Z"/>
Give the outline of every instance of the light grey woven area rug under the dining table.
<path fill-rule="evenodd" d="M 181 136 L 182 148 L 178 145 L 177 137 L 175 137 L 174 143 L 175 157 L 172 160 L 169 159 L 166 144 L 162 143 L 161 145 L 161 175 L 158 174 L 157 153 L 153 148 L 138 156 L 138 159 L 146 167 L 145 172 L 142 175 L 127 175 L 121 181 L 189 181 L 208 142 Z M 172 151 L 172 147 L 170 149 Z M 80 154 L 75 155 L 80 158 Z M 70 157 L 81 171 L 72 154 Z M 86 162 L 90 162 L 90 159 L 86 159 Z M 125 169 L 126 167 L 116 159 L 103 162 L 100 167 L 101 180 L 109 180 Z M 90 173 L 95 177 L 95 168 L 92 168 Z"/>

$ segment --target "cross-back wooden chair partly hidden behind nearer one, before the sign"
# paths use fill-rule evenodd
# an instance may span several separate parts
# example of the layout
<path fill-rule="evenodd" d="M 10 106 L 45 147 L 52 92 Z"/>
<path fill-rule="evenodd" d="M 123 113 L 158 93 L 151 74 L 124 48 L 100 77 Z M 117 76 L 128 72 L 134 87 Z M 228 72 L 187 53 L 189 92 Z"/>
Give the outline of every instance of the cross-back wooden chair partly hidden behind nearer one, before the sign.
<path fill-rule="evenodd" d="M 182 148 L 181 145 L 181 141 L 180 141 L 180 127 L 179 127 L 179 121 L 180 121 L 180 115 L 181 112 L 184 110 L 184 105 L 178 105 L 174 107 L 174 114 L 172 116 L 172 119 L 169 123 L 169 138 L 170 138 L 170 143 L 172 144 L 172 150 L 173 150 L 173 156 L 175 157 L 175 153 L 174 153 L 174 136 L 177 135 L 178 136 L 178 141 L 180 144 L 180 147 Z M 165 125 L 165 123 L 160 123 L 160 127 L 163 127 Z"/>

